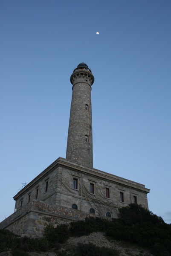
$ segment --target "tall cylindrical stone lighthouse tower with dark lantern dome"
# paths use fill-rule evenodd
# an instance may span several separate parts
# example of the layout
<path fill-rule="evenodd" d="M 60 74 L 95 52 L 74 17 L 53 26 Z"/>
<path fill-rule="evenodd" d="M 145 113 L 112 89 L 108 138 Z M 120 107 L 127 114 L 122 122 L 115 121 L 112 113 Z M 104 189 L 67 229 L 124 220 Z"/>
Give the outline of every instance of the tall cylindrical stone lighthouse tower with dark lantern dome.
<path fill-rule="evenodd" d="M 72 102 L 66 159 L 93 168 L 91 86 L 94 76 L 87 64 L 80 63 L 70 81 Z"/>

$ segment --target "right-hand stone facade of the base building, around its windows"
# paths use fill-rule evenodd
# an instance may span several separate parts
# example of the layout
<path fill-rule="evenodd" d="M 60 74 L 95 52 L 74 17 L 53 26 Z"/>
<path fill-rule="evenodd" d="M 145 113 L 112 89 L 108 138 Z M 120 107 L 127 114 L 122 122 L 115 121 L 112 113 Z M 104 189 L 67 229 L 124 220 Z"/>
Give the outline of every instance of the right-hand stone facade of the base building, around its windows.
<path fill-rule="evenodd" d="M 73 188 L 73 179 L 77 180 L 77 189 Z M 90 192 L 90 184 L 93 184 L 93 193 Z M 109 198 L 106 197 L 106 189 L 109 190 Z M 121 201 L 120 192 L 123 193 L 123 201 Z M 90 212 L 90 208 L 93 208 L 96 215 L 102 218 L 107 212 L 116 218 L 119 207 L 134 203 L 133 196 L 136 197 L 137 204 L 148 209 L 147 194 L 131 187 L 131 183 L 128 187 L 109 179 L 99 178 L 95 172 L 87 175 L 65 167 L 62 169 L 61 206 L 71 208 L 72 204 L 76 204 L 81 211 Z"/>

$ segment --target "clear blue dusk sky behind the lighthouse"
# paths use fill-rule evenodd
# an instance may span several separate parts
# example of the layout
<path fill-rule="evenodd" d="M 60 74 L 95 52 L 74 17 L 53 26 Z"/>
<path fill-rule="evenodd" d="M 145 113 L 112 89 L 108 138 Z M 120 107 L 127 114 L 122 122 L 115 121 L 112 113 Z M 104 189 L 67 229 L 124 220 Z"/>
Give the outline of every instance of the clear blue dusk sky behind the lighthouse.
<path fill-rule="evenodd" d="M 65 158 L 84 61 L 94 168 L 145 184 L 171 223 L 171 0 L 0 0 L 0 36 L 0 221 L 22 183 Z"/>

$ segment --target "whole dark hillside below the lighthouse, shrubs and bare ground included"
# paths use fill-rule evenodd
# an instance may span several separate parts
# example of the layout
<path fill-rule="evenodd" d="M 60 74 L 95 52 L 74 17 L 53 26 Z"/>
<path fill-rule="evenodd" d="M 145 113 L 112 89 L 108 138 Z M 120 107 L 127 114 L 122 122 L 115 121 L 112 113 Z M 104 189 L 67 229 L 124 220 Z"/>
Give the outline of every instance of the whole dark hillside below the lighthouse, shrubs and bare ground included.
<path fill-rule="evenodd" d="M 47 225 L 43 238 L 0 230 L 0 256 L 171 256 L 171 225 L 130 204 L 117 219 L 86 218 L 70 226 Z"/>

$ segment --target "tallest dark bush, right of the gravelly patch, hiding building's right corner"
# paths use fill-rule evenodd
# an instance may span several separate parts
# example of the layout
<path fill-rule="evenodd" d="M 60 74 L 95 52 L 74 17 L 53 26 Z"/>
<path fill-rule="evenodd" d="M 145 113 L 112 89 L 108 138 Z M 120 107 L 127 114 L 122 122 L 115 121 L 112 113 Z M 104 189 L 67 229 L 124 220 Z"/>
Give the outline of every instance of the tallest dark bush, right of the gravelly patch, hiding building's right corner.
<path fill-rule="evenodd" d="M 155 256 L 171 255 L 171 225 L 140 205 L 120 208 L 106 235 L 148 247 Z"/>

